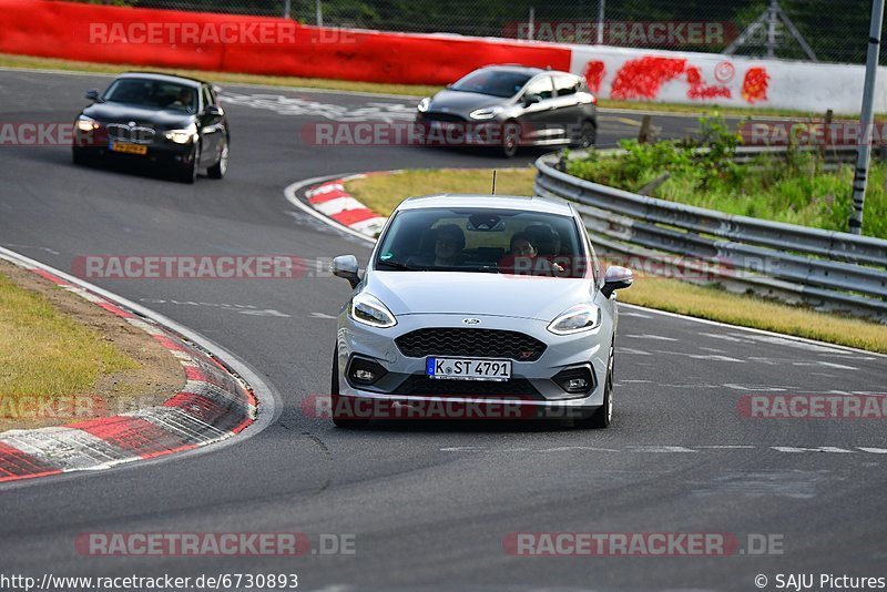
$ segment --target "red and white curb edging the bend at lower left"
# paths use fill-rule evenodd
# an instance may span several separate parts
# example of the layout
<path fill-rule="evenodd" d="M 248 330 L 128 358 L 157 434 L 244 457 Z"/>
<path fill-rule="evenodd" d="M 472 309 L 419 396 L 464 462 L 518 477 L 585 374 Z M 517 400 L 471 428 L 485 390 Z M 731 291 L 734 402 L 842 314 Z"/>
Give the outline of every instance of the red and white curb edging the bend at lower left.
<path fill-rule="evenodd" d="M 0 251 L 0 258 L 144 330 L 179 359 L 186 377 L 185 387 L 160 406 L 62 427 L 0 432 L 0 482 L 106 469 L 192 450 L 231 438 L 256 420 L 258 402 L 249 385 L 196 343 L 62 277 L 67 274 L 57 275 L 7 249 Z"/>

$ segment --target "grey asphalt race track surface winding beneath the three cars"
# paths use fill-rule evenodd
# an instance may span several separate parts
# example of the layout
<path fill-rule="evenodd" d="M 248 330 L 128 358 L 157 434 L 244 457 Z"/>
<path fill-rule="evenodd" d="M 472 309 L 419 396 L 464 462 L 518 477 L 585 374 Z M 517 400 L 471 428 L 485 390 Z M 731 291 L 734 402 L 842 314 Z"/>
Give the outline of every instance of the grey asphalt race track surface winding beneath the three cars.
<path fill-rule="evenodd" d="M 83 91 L 108 80 L 2 71 L 0 121 L 69 122 Z M 186 186 L 75 167 L 63 147 L 0 146 L 0 244 L 63 271 L 88 254 L 366 261 L 365 243 L 296 211 L 284 187 L 336 173 L 536 156 L 309 146 L 303 124 L 401 112 L 410 101 L 226 91 L 281 95 L 273 102 L 286 106 L 228 105 L 223 182 Z M 639 119 L 604 114 L 600 145 L 636 134 Z M 695 126 L 679 116 L 655 123 L 672 135 Z M 755 590 L 756 574 L 771 588 L 777 573 L 887 575 L 885 421 L 737 412 L 748 394 L 884 392 L 887 358 L 623 307 L 608 430 L 410 422 L 343 431 L 306 417 L 299 402 L 328 390 L 344 280 L 95 283 L 237 355 L 275 389 L 279 415 L 254 437 L 204 453 L 3 487 L 4 574 L 297 573 L 307 590 Z M 801 450 L 818 447 L 830 448 Z M 74 541 L 89 532 L 353 533 L 356 553 L 83 557 Z M 743 541 L 763 533 L 782 537 L 783 553 L 511 557 L 502 547 L 511 532 L 726 532 Z"/>

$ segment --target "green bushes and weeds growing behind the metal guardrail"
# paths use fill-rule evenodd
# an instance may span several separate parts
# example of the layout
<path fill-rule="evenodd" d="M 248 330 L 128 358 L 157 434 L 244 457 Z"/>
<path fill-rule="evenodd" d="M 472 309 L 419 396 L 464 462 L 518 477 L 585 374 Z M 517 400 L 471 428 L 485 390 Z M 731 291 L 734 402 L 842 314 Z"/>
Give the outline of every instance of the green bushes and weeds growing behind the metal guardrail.
<path fill-rule="evenodd" d="M 778 156 L 736 164 L 738 136 L 718 118 L 701 120 L 697 141 L 655 144 L 622 142 L 624 155 L 592 153 L 569 161 L 567 172 L 614 187 L 638 191 L 663 173 L 655 197 L 791 224 L 847 231 L 853 167 L 820 171 L 815 154 L 791 147 Z M 887 163 L 873 163 L 864 233 L 887 238 Z"/>

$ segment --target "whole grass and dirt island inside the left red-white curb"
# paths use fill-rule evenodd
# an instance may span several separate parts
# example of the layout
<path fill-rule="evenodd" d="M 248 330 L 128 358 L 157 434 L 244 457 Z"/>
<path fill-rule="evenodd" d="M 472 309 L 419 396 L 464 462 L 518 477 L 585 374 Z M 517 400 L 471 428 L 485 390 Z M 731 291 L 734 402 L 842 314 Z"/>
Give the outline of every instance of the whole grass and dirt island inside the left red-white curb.
<path fill-rule="evenodd" d="M 0 431 L 159 405 L 184 384 L 147 334 L 0 261 Z"/>

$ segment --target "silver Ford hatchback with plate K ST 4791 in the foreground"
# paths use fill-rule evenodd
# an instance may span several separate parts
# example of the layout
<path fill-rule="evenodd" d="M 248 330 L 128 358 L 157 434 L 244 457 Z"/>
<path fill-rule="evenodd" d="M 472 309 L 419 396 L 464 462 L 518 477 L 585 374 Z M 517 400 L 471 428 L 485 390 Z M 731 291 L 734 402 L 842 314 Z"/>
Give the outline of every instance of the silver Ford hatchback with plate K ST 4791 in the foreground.
<path fill-rule="evenodd" d="M 333 420 L 570 418 L 613 415 L 614 290 L 572 205 L 540 197 L 404 201 L 338 317 Z M 442 415 L 441 415 L 442 411 Z"/>

